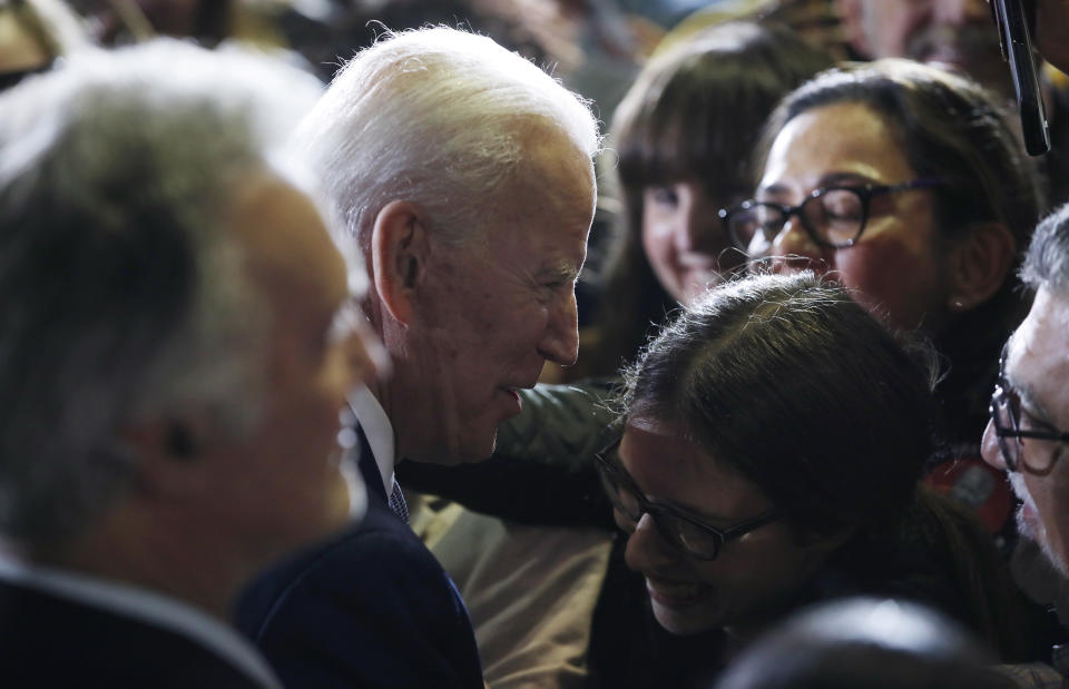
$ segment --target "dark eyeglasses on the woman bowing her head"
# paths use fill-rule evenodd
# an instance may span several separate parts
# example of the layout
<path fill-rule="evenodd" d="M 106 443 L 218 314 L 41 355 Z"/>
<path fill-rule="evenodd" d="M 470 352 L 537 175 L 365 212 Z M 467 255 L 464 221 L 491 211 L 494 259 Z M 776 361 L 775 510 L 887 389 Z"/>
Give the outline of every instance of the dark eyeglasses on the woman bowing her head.
<path fill-rule="evenodd" d="M 615 445 L 614 445 L 615 446 Z M 657 531 L 660 533 L 661 538 L 666 542 L 670 543 L 674 548 L 683 552 L 684 554 L 695 558 L 696 560 L 716 560 L 717 555 L 720 554 L 720 549 L 730 541 L 735 541 L 746 535 L 751 531 L 771 524 L 772 522 L 782 519 L 783 514 L 776 508 L 762 512 L 757 516 L 747 519 L 738 524 L 729 526 L 728 529 L 717 529 L 712 524 L 705 523 L 699 516 L 690 514 L 686 510 L 680 510 L 679 508 L 658 504 L 656 502 L 650 502 L 646 499 L 646 495 L 639 490 L 638 485 L 635 483 L 635 480 L 622 467 L 616 466 L 612 462 L 606 459 L 606 454 L 595 455 L 597 460 L 598 473 L 601 476 L 602 484 L 606 489 L 606 494 L 609 496 L 609 502 L 612 503 L 612 506 L 620 511 L 621 514 L 627 516 L 629 520 L 634 521 L 636 524 L 641 520 L 643 514 L 649 514 L 653 518 L 654 523 L 657 525 Z M 620 503 L 618 494 L 614 494 L 609 490 L 609 485 L 615 485 L 619 490 L 625 490 L 635 498 L 635 501 L 638 503 L 638 514 L 631 514 L 628 512 L 627 508 Z M 693 524 L 703 531 L 709 533 L 714 537 L 714 542 L 716 548 L 713 550 L 712 554 L 695 552 L 694 550 L 687 548 L 683 542 L 680 534 L 668 529 L 667 525 L 659 519 L 660 515 L 673 516 L 675 519 L 683 520 L 689 524 Z"/>

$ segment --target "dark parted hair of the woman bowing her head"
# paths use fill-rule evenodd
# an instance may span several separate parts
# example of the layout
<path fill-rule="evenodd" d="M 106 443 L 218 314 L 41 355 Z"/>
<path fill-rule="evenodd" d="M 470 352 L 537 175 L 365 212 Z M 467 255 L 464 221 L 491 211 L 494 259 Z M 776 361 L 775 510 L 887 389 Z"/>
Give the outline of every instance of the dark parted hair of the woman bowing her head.
<path fill-rule="evenodd" d="M 923 544 L 951 573 L 961 617 L 1014 657 L 1011 603 L 990 600 L 1012 590 L 993 543 L 918 488 L 933 449 L 932 361 L 831 282 L 755 275 L 665 326 L 626 373 L 624 411 L 681 425 L 800 533 L 852 530 L 832 555 L 852 580 L 879 589 L 899 547 Z"/>

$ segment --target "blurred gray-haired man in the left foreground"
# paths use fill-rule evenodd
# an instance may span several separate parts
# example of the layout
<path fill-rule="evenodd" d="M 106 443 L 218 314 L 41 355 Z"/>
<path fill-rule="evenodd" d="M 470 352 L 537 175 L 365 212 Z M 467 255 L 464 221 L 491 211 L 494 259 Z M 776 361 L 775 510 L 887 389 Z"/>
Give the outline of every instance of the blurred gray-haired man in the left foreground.
<path fill-rule="evenodd" d="M 233 599 L 363 510 L 366 278 L 274 152 L 288 69 L 160 42 L 0 97 L 4 686 L 279 687 Z"/>

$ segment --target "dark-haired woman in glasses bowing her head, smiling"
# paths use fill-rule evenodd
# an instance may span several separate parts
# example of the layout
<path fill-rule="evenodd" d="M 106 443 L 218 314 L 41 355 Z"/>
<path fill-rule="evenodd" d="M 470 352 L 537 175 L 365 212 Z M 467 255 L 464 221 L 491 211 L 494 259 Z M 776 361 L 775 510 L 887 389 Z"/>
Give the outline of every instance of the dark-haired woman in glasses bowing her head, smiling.
<path fill-rule="evenodd" d="M 811 274 L 723 285 L 671 321 L 597 459 L 646 596 L 602 592 L 591 652 L 619 667 L 591 686 L 699 686 L 796 608 L 847 594 L 921 600 L 1021 657 L 993 542 L 919 485 L 926 361 Z"/>

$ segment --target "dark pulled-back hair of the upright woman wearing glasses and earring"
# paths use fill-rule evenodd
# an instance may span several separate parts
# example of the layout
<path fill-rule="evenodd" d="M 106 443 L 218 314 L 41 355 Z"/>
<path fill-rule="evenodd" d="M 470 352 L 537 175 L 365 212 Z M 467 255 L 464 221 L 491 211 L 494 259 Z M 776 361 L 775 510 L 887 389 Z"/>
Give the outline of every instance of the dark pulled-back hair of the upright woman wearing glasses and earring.
<path fill-rule="evenodd" d="M 881 116 L 916 177 L 941 183 L 934 215 L 944 246 L 979 224 L 1001 223 L 1017 242 L 1016 268 L 1046 200 L 1041 177 L 998 96 L 968 77 L 910 60 L 838 67 L 801 86 L 776 108 L 757 147 L 756 168 L 764 167 L 787 122 L 844 102 L 862 104 Z M 951 362 L 938 394 L 948 401 L 944 414 L 955 442 L 973 444 L 979 437 L 993 384 L 990 364 L 1027 311 L 1014 268 L 990 299 L 935 334 L 936 346 Z"/>

